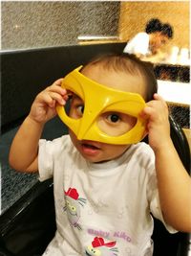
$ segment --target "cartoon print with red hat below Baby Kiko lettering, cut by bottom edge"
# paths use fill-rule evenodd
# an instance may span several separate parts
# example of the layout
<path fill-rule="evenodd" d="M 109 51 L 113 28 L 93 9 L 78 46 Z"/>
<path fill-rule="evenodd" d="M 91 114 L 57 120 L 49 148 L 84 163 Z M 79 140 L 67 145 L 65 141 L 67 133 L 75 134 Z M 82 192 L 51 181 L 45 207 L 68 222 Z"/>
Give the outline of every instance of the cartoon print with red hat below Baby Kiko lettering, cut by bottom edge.
<path fill-rule="evenodd" d="M 96 237 L 85 249 L 86 256 L 117 256 L 116 241 L 105 243 L 103 238 Z"/>

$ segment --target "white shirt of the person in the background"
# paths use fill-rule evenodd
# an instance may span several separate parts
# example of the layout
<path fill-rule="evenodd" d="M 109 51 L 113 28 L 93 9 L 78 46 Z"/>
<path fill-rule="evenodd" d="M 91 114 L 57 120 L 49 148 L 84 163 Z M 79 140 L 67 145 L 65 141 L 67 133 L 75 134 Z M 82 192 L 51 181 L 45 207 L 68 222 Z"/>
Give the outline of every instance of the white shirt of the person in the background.
<path fill-rule="evenodd" d="M 151 54 L 149 50 L 149 35 L 145 32 L 135 35 L 125 46 L 123 53 L 141 54 L 143 56 Z"/>

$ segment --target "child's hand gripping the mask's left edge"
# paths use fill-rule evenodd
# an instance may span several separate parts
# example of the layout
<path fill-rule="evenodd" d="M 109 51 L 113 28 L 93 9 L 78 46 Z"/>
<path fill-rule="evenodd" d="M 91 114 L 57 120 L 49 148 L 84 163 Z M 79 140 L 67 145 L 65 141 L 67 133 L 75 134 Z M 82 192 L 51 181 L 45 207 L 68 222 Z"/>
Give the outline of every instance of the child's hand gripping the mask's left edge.
<path fill-rule="evenodd" d="M 29 117 L 37 123 L 46 123 L 56 115 L 55 105 L 65 105 L 67 92 L 61 87 L 62 79 L 41 91 L 35 98 Z"/>

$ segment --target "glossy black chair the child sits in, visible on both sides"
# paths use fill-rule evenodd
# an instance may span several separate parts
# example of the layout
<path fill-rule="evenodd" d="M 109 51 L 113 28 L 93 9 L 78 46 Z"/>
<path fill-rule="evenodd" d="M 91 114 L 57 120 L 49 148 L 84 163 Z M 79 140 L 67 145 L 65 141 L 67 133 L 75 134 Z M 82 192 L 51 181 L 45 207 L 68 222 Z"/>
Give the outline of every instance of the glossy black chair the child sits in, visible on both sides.
<path fill-rule="evenodd" d="M 186 137 L 171 117 L 170 124 L 172 140 L 189 173 Z M 53 239 L 55 229 L 53 180 L 37 182 L 0 217 L 0 256 L 40 256 Z M 155 220 L 153 240 L 154 256 L 189 255 L 190 234 L 170 234 L 158 220 Z"/>

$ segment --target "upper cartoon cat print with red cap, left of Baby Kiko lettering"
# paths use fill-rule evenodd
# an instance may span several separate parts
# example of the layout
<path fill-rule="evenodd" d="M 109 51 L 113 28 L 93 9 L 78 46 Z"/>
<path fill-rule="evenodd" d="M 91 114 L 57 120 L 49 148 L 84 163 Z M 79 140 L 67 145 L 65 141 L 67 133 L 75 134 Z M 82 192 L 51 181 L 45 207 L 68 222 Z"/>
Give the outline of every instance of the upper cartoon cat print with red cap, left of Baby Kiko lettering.
<path fill-rule="evenodd" d="M 70 223 L 81 230 L 81 226 L 78 223 L 80 219 L 80 205 L 84 206 L 86 199 L 79 198 L 79 194 L 74 188 L 69 188 L 68 191 L 64 193 L 66 198 L 64 211 L 67 212 Z"/>

